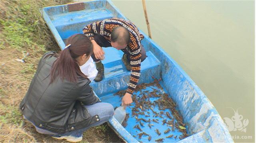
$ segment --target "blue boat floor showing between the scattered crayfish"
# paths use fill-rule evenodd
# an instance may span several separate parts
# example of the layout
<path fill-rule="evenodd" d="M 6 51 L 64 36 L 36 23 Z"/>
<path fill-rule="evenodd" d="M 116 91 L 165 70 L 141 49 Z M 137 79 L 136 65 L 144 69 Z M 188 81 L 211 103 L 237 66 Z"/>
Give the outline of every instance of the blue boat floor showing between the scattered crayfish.
<path fill-rule="evenodd" d="M 160 85 L 163 85 L 163 82 L 160 82 Z M 149 86 L 149 87 L 147 87 L 146 89 L 143 89 L 142 90 L 142 93 L 144 92 L 144 91 L 149 91 L 149 92 L 152 92 L 153 91 L 153 88 L 155 88 L 155 89 L 157 89 L 157 87 L 156 86 Z M 166 90 L 164 89 L 164 90 L 159 90 L 160 91 L 160 94 L 164 94 L 164 93 L 166 93 Z M 136 95 L 136 96 L 138 96 L 138 98 L 140 98 L 140 97 L 142 97 L 142 95 L 140 95 L 140 93 L 141 92 L 134 92 L 134 95 Z M 121 100 L 122 100 L 122 98 L 120 98 L 119 96 L 117 96 L 117 95 L 113 95 L 113 94 L 107 94 L 107 95 L 104 95 L 104 96 L 102 96 L 102 97 L 100 97 L 100 99 L 102 100 L 102 102 L 108 102 L 108 103 L 111 103 L 114 107 L 119 107 L 120 106 L 120 104 L 121 104 Z M 150 98 L 150 102 L 154 102 L 155 100 L 158 100 L 159 99 L 159 97 L 155 97 L 155 98 Z M 134 126 L 136 125 L 136 124 L 140 124 L 139 122 L 137 122 L 136 121 L 136 119 L 133 117 L 133 118 L 131 118 L 132 117 L 132 108 L 134 108 L 134 103 L 132 103 L 131 104 L 131 106 L 130 107 L 128 107 L 127 109 L 126 109 L 126 113 L 128 113 L 129 114 L 129 116 L 130 116 L 130 118 L 128 118 L 128 121 L 127 121 L 127 126 L 125 127 L 125 129 L 126 129 L 126 131 L 128 131 L 132 136 L 134 136 L 138 141 L 142 141 L 143 143 L 145 143 L 145 142 L 149 142 L 148 141 L 148 136 L 142 136 L 142 138 L 141 139 L 139 139 L 139 137 L 138 137 L 138 133 L 141 133 L 141 131 L 139 131 L 138 129 L 134 129 Z M 146 109 L 144 109 L 144 110 L 146 110 Z M 158 109 L 158 106 L 155 106 L 154 108 L 153 108 L 153 110 L 155 111 L 155 112 L 160 112 L 160 110 Z M 146 116 L 144 116 L 144 115 L 138 115 L 138 118 L 143 118 L 143 119 L 146 119 L 146 120 L 148 120 L 148 119 L 151 119 L 151 123 L 152 124 L 154 124 L 154 126 L 152 126 L 151 127 L 151 129 L 148 127 L 148 123 L 146 123 L 146 122 L 144 122 L 144 121 L 142 121 L 142 123 L 144 123 L 144 127 L 141 127 L 141 129 L 143 130 L 143 131 L 145 131 L 146 133 L 148 133 L 148 134 L 150 134 L 151 136 L 152 136 L 152 138 L 151 138 L 151 142 L 152 141 L 155 141 L 156 139 L 160 139 L 160 138 L 164 138 L 164 142 L 176 142 L 176 141 L 179 141 L 180 139 L 178 138 L 180 135 L 182 135 L 182 133 L 178 130 L 178 129 L 175 129 L 174 131 L 172 131 L 172 128 L 170 127 L 170 126 L 168 126 L 167 124 L 165 124 L 165 125 L 162 125 L 162 118 L 160 118 L 160 117 L 154 117 L 153 118 L 153 112 L 152 112 L 152 110 L 147 110 L 148 112 L 150 112 L 150 114 L 147 114 L 146 112 L 145 112 L 145 114 L 146 115 L 150 115 L 150 117 L 146 117 Z M 164 111 L 164 112 L 169 112 L 169 113 L 171 113 L 170 112 L 170 110 L 161 110 L 161 111 Z M 172 116 L 172 115 L 171 115 Z M 168 119 L 168 117 L 166 116 L 166 115 L 163 115 L 163 117 L 164 118 L 166 118 L 166 119 Z M 172 118 L 174 118 L 173 116 L 172 116 Z M 159 120 L 159 123 L 155 123 L 154 121 L 152 121 L 152 119 L 158 119 Z M 176 119 L 174 119 L 174 121 L 176 122 L 177 120 Z M 169 132 L 169 133 L 166 133 L 166 134 L 164 134 L 164 131 L 166 130 L 166 129 L 170 129 L 171 131 Z M 160 131 L 160 133 L 161 133 L 161 135 L 158 135 L 156 132 L 155 132 L 155 129 L 159 129 L 159 131 Z M 166 136 L 168 136 L 168 135 L 177 135 L 177 138 L 176 139 L 174 139 L 174 137 L 172 137 L 172 138 L 166 138 Z"/>

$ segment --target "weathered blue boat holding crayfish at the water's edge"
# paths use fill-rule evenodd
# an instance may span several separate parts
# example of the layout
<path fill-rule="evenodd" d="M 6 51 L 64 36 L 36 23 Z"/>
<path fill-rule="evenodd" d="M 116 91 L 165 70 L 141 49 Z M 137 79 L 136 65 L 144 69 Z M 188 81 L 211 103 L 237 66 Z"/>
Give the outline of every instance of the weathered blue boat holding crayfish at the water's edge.
<path fill-rule="evenodd" d="M 62 50 L 65 48 L 65 40 L 70 35 L 82 33 L 82 28 L 87 24 L 113 17 L 127 19 L 110 0 L 96 0 L 45 7 L 41 12 Z M 141 33 L 143 32 L 141 31 Z M 145 125 L 142 129 L 152 136 L 151 142 L 159 138 L 163 138 L 164 142 L 180 143 L 234 142 L 224 121 L 202 90 L 200 90 L 188 74 L 160 46 L 146 34 L 144 35 L 145 38 L 141 42 L 144 45 L 148 57 L 141 64 L 139 84 L 153 82 L 154 78 L 162 79 L 159 82 L 162 86 L 161 92 L 168 94 L 176 102 L 176 108 L 183 117 L 183 122 L 186 124 L 185 128 L 188 133 L 188 136 L 183 139 L 178 137 L 176 139 L 174 137 L 166 138 L 166 134 L 163 132 L 167 127 L 163 127 L 161 123 L 154 123 L 152 129 Z M 121 98 L 115 96 L 114 93 L 127 88 L 130 72 L 126 71 L 121 61 L 122 51 L 114 48 L 103 49 L 106 53 L 105 60 L 102 61 L 105 67 L 105 77 L 101 82 L 92 82 L 91 86 L 100 100 L 109 102 L 114 107 L 120 106 Z M 146 87 L 144 90 L 150 91 L 153 88 Z M 140 91 L 134 94 L 139 96 Z M 152 98 L 150 100 L 155 99 Z M 154 110 L 158 112 L 157 109 Z M 131 115 L 131 108 L 128 108 L 127 112 Z M 148 114 L 152 113 L 148 112 Z M 172 114 L 170 116 L 173 117 Z M 144 118 L 143 115 L 139 118 L 142 117 Z M 133 117 L 130 116 L 127 123 L 128 125 L 123 127 L 114 117 L 108 121 L 110 127 L 125 142 L 148 142 L 147 137 L 138 137 L 137 134 L 139 131 L 134 128 L 136 120 Z M 159 129 L 162 134 L 157 135 L 154 131 L 155 129 Z M 168 135 L 170 134 L 179 136 L 181 132 L 175 129 Z"/>

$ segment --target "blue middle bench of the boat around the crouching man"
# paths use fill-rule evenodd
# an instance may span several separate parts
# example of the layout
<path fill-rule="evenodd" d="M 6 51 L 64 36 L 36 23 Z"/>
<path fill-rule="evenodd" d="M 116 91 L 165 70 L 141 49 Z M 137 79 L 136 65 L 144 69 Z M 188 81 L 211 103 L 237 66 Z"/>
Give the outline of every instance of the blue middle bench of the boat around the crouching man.
<path fill-rule="evenodd" d="M 124 63 L 122 62 L 123 52 L 121 50 L 117 50 L 113 47 L 104 48 L 105 59 L 102 61 L 104 65 L 104 78 L 103 80 L 107 80 L 113 76 L 118 76 L 120 74 L 130 75 L 130 71 L 126 70 Z M 147 51 L 147 58 L 141 63 L 141 72 L 149 69 L 154 69 L 160 65 L 160 61 L 151 53 L 151 51 Z M 93 81 L 94 82 L 94 81 Z"/>

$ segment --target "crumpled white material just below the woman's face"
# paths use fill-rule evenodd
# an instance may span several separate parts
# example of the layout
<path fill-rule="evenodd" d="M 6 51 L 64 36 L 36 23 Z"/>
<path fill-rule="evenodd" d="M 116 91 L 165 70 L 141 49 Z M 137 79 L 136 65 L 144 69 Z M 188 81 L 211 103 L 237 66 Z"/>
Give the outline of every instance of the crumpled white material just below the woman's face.
<path fill-rule="evenodd" d="M 90 57 L 84 65 L 79 67 L 80 67 L 80 70 L 83 72 L 83 74 L 85 74 L 91 81 L 93 81 L 94 78 L 96 78 L 98 71 L 93 62 L 92 57 Z"/>

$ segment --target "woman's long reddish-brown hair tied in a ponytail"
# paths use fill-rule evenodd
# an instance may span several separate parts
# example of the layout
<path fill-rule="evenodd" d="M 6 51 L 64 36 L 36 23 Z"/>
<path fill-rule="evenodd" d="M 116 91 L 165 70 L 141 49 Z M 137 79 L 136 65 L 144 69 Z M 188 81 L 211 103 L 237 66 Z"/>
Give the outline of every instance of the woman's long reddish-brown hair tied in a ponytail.
<path fill-rule="evenodd" d="M 77 82 L 78 76 L 87 78 L 81 72 L 76 58 L 84 54 L 90 56 L 92 54 L 92 42 L 84 34 L 75 34 L 67 39 L 66 45 L 66 48 L 56 55 L 58 58 L 54 61 L 51 69 L 50 84 L 54 82 L 57 76 L 70 82 Z"/>

